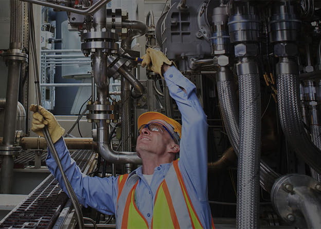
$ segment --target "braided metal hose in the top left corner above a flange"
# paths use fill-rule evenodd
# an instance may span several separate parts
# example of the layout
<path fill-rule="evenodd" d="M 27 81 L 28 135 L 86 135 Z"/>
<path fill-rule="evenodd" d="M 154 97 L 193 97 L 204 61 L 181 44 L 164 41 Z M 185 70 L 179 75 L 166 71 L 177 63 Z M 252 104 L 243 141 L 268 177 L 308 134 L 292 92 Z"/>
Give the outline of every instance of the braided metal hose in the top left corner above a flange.
<path fill-rule="evenodd" d="M 19 0 L 10 1 L 10 48 L 22 48 L 22 4 Z"/>

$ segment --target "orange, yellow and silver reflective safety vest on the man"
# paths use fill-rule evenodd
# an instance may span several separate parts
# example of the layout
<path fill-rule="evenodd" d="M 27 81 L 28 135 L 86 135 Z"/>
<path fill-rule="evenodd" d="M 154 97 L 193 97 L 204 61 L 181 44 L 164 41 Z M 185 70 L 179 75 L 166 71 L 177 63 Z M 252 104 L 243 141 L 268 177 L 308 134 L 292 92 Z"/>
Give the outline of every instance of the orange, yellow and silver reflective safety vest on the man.
<path fill-rule="evenodd" d="M 151 225 L 135 203 L 138 175 L 133 174 L 130 178 L 128 174 L 119 176 L 116 228 L 203 228 L 177 163 L 178 160 L 172 163 L 157 189 Z M 213 221 L 212 228 L 215 228 Z"/>

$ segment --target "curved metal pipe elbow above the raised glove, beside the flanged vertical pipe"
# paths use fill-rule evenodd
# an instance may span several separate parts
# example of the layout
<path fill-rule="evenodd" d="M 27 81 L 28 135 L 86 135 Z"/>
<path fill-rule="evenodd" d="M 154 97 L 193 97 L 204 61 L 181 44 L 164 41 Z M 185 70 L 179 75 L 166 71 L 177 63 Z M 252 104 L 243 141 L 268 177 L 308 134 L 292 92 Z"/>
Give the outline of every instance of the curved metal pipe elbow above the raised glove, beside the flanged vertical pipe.
<path fill-rule="evenodd" d="M 124 20 L 121 26 L 131 30 L 129 31 L 129 36 L 121 42 L 121 46 L 124 49 L 131 49 L 133 40 L 147 33 L 147 26 L 144 22 Z"/>

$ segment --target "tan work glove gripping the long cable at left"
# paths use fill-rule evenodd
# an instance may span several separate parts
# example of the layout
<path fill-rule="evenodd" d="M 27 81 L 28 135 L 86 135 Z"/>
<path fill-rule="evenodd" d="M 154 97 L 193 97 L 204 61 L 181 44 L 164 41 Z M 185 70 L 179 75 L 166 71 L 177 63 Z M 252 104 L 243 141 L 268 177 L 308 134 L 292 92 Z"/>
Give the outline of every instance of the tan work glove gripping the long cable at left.
<path fill-rule="evenodd" d="M 31 130 L 34 133 L 43 137 L 43 129 L 47 126 L 53 143 L 56 143 L 59 138 L 63 136 L 65 129 L 58 124 L 57 119 L 53 114 L 51 114 L 51 112 L 47 111 L 40 105 L 34 104 L 30 105 L 29 110 L 34 112 L 31 123 Z"/>

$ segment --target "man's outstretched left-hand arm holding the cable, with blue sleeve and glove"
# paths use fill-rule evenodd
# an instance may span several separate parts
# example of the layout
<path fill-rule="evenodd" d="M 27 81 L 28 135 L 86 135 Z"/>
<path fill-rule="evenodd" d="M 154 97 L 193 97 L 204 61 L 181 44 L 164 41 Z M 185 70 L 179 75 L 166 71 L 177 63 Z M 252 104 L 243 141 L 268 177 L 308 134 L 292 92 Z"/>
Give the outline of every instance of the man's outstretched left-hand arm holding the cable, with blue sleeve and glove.
<path fill-rule="evenodd" d="M 64 129 L 58 124 L 55 116 L 41 106 L 39 106 L 38 109 L 31 106 L 30 110 L 34 112 L 31 129 L 35 133 L 42 135 L 42 129 L 45 126 L 48 126 L 49 134 L 52 141 L 55 143 L 64 173 L 72 185 L 79 202 L 83 206 L 91 206 L 99 210 L 101 213 L 110 215 L 114 214 L 117 198 L 116 189 L 118 188 L 117 179 L 114 177 L 103 179 L 98 177 L 88 177 L 81 173 L 76 162 L 70 158 L 69 151 L 67 150 L 62 138 Z M 58 180 L 61 188 L 66 192 L 61 172 L 49 149 L 46 164 L 49 171 Z"/>

